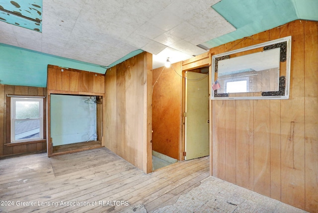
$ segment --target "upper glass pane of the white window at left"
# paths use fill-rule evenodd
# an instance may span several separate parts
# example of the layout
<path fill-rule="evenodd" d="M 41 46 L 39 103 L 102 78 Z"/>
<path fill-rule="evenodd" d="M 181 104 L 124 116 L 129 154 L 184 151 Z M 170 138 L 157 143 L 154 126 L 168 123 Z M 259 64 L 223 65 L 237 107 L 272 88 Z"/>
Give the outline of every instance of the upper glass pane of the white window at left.
<path fill-rule="evenodd" d="M 15 102 L 15 118 L 26 119 L 26 118 L 39 118 L 39 102 Z"/>

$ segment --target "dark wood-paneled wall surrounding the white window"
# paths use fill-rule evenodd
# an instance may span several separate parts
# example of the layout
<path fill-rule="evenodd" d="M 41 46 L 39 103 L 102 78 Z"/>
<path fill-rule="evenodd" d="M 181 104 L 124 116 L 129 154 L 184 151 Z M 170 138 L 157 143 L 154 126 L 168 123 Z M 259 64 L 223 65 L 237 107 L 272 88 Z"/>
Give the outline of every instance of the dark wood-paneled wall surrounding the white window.
<path fill-rule="evenodd" d="M 10 129 L 7 124 L 10 119 L 10 109 L 6 107 L 8 98 L 6 95 L 24 95 L 24 96 L 46 96 L 46 88 L 41 87 L 24 87 L 0 84 L 0 156 L 21 154 L 28 152 L 46 151 L 46 140 L 41 142 L 23 142 L 23 143 L 10 143 L 9 134 Z M 44 99 L 44 103 L 46 99 Z M 44 104 L 44 110 L 46 106 Z M 44 113 L 44 125 L 46 121 L 46 113 Z M 46 138 L 46 128 L 44 130 L 44 138 Z M 8 137 L 7 137 L 8 136 Z M 6 144 L 6 145 L 5 145 Z"/>

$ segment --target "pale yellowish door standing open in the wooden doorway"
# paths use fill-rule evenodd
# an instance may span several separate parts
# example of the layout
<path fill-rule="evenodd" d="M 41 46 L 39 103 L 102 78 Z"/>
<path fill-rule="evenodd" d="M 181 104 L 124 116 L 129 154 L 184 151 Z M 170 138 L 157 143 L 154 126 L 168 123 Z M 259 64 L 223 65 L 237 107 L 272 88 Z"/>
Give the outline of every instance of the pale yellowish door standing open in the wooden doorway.
<path fill-rule="evenodd" d="M 209 76 L 186 72 L 185 160 L 209 155 Z"/>

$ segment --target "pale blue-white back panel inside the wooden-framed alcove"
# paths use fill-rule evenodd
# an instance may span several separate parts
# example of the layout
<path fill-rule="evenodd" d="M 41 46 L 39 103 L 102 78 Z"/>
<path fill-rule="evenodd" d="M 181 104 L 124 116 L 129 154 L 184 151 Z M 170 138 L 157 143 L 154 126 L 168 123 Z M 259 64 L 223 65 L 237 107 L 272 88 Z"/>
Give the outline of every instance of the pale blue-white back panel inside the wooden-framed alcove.
<path fill-rule="evenodd" d="M 51 95 L 53 146 L 95 140 L 96 104 L 89 96 Z"/>

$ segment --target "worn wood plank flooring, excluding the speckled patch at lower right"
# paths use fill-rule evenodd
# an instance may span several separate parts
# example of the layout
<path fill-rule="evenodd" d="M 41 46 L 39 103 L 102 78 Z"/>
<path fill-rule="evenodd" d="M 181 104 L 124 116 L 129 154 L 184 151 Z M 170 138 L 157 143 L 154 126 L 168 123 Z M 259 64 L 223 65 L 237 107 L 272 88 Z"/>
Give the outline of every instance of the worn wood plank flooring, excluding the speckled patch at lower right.
<path fill-rule="evenodd" d="M 106 148 L 0 159 L 0 212 L 150 212 L 207 177 L 208 157 L 146 175 Z"/>

